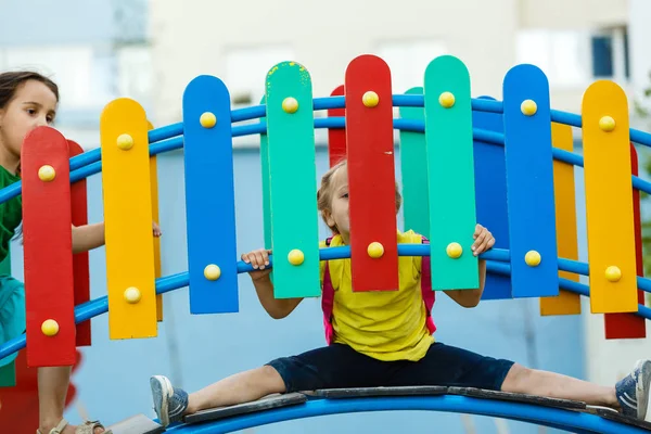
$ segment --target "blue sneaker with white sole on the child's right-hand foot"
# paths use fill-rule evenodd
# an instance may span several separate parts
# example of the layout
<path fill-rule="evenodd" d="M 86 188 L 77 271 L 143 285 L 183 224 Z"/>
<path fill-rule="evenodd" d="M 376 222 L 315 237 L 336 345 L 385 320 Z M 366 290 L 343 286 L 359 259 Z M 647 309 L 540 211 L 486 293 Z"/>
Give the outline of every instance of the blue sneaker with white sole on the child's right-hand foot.
<path fill-rule="evenodd" d="M 615 395 L 624 416 L 644 420 L 649 404 L 649 382 L 651 382 L 650 360 L 638 360 L 633 372 L 617 382 Z"/>

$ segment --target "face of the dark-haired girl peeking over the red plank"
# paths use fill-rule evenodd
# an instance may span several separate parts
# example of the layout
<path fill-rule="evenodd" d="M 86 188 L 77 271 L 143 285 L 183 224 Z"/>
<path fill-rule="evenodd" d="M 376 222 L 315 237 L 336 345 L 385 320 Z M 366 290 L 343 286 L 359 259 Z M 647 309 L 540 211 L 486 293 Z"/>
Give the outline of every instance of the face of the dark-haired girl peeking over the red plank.
<path fill-rule="evenodd" d="M 56 102 L 56 95 L 42 82 L 22 84 L 13 100 L 0 108 L 0 145 L 20 158 L 25 136 L 54 122 Z"/>

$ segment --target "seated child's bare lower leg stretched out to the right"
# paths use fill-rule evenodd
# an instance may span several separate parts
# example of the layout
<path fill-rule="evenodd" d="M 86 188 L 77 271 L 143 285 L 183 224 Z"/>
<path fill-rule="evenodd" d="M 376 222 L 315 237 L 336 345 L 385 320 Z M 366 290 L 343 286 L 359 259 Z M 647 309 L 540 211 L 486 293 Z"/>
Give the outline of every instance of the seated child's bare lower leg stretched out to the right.
<path fill-rule="evenodd" d="M 614 386 L 600 386 L 554 372 L 524 368 L 518 363 L 513 365 L 507 374 L 502 391 L 580 400 L 588 405 L 620 410 Z"/>

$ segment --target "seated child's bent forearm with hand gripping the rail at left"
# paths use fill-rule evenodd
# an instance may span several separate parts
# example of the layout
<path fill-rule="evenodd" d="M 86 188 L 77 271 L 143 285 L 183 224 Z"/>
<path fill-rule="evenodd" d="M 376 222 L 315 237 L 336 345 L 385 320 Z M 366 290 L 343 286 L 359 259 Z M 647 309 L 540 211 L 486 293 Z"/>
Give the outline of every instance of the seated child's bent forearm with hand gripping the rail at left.
<path fill-rule="evenodd" d="M 270 253 L 271 251 L 260 248 L 242 255 L 242 260 L 251 264 L 254 268 L 254 271 L 251 271 L 248 275 L 251 276 L 260 304 L 271 318 L 281 319 L 290 315 L 303 298 L 273 297 L 273 283 L 271 283 L 271 278 L 269 277 L 271 269 L 266 268 L 269 265 Z"/>

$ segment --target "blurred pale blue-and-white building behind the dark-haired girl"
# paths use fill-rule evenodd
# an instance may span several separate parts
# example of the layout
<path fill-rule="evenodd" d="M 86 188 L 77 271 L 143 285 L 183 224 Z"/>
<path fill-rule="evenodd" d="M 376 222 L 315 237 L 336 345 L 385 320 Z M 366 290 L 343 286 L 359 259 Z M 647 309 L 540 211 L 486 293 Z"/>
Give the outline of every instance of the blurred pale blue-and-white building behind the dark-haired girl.
<path fill-rule="evenodd" d="M 118 97 L 151 106 L 146 0 L 0 0 L 0 71 L 33 68 L 61 91 L 56 126 L 99 145 L 100 113 Z"/>

